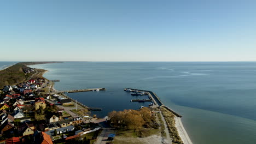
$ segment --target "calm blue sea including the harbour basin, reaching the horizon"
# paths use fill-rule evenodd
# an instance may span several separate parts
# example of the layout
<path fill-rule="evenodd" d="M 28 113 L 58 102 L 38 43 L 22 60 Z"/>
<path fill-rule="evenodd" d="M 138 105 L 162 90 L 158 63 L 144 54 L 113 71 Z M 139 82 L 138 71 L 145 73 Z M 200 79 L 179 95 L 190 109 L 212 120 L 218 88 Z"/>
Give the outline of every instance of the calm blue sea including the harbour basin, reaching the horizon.
<path fill-rule="evenodd" d="M 0 63 L 0 67 L 4 62 Z M 130 102 L 124 88 L 153 91 L 182 115 L 194 144 L 256 143 L 256 62 L 63 62 L 31 65 L 57 90 L 106 88 L 100 92 L 68 93 L 101 112 L 139 109 L 149 103 Z"/>

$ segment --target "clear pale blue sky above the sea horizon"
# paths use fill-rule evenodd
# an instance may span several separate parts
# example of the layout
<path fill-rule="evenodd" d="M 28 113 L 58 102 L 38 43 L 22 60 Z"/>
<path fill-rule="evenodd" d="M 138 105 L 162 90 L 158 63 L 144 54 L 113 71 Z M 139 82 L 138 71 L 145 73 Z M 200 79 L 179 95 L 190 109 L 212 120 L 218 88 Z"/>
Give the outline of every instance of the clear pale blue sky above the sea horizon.
<path fill-rule="evenodd" d="M 256 61 L 256 1 L 0 1 L 0 61 Z"/>

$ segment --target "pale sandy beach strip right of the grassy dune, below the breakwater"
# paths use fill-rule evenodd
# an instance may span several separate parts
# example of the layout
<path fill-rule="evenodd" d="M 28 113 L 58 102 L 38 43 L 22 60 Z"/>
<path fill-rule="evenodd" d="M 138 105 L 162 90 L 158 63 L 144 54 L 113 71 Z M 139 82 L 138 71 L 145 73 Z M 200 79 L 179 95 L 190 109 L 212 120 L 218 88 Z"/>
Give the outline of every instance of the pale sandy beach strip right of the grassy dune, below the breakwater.
<path fill-rule="evenodd" d="M 183 127 L 182 121 L 180 117 L 174 117 L 175 119 L 175 126 L 179 132 L 179 136 L 181 137 L 182 141 L 184 142 L 184 144 L 192 144 L 192 141 L 190 140 L 187 131 L 185 130 L 185 128 Z"/>

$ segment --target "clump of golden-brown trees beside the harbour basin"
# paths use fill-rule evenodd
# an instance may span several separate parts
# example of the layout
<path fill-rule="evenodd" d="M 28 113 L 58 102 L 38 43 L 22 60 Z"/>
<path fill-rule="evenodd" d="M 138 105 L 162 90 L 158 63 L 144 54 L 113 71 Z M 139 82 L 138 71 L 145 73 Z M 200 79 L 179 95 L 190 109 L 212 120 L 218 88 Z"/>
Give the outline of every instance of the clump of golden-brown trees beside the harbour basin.
<path fill-rule="evenodd" d="M 113 127 L 139 129 L 141 127 L 154 127 L 155 117 L 148 107 L 141 110 L 112 111 L 108 115 Z"/>

